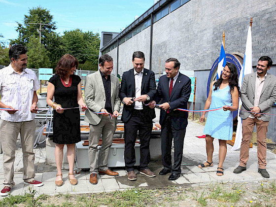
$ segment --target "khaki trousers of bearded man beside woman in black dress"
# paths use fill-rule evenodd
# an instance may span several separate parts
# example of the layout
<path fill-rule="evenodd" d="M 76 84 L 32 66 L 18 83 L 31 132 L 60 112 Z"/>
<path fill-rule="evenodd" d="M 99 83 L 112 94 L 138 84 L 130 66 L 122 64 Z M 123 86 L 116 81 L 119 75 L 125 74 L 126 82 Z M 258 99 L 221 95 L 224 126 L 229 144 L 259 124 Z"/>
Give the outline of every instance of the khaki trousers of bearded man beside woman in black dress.
<path fill-rule="evenodd" d="M 100 154 L 99 170 L 106 171 L 107 159 L 110 146 L 112 144 L 113 135 L 116 130 L 115 119 L 111 119 L 109 116 L 103 116 L 98 125 L 89 125 L 89 148 L 88 159 L 90 164 L 90 174 L 98 174 L 98 144 L 102 135 L 103 143 Z"/>

